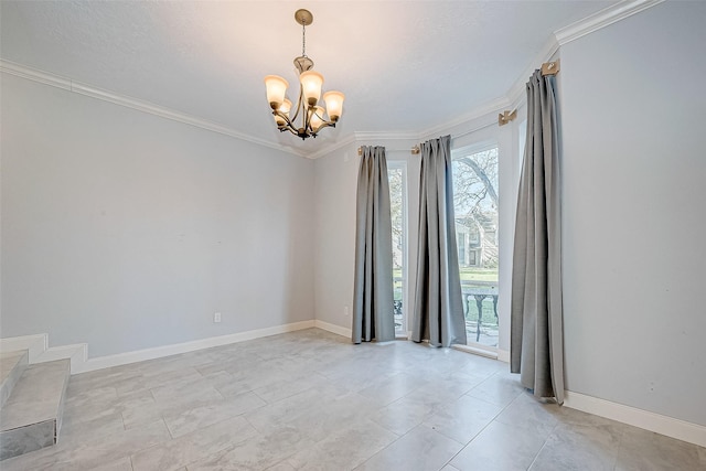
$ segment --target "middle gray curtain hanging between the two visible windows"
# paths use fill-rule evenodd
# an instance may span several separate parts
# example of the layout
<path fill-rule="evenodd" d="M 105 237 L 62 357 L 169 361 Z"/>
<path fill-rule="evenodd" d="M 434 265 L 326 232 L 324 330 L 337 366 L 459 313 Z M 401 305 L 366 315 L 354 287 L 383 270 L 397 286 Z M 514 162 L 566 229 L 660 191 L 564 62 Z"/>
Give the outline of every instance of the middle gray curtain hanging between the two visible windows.
<path fill-rule="evenodd" d="M 420 146 L 419 247 L 411 340 L 435 346 L 466 343 L 456 246 L 451 137 Z"/>

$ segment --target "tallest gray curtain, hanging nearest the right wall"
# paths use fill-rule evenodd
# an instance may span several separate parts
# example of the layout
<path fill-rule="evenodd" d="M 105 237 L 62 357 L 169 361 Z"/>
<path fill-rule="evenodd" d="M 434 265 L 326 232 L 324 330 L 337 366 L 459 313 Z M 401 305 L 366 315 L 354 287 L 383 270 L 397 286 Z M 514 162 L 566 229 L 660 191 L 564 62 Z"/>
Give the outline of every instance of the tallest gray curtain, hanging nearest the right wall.
<path fill-rule="evenodd" d="M 527 140 L 512 267 L 511 363 L 537 397 L 564 403 L 559 114 L 556 78 L 527 83 Z"/>

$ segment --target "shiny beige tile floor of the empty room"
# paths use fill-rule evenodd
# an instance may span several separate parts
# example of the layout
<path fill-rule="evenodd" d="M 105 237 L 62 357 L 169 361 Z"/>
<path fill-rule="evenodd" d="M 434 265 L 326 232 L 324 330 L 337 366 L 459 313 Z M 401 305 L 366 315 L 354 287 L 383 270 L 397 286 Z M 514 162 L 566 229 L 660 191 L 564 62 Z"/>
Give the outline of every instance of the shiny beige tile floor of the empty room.
<path fill-rule="evenodd" d="M 12 470 L 706 470 L 706 449 L 536 402 L 507 365 L 311 329 L 71 378 Z"/>

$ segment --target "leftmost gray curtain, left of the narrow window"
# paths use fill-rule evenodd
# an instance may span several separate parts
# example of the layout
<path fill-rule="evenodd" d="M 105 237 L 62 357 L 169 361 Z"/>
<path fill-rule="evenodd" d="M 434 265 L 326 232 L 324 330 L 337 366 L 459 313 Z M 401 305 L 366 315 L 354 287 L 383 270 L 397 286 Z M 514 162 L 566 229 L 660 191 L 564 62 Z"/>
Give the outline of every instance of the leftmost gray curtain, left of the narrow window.
<path fill-rule="evenodd" d="M 395 340 L 393 229 L 384 147 L 363 147 L 357 174 L 354 343 Z"/>

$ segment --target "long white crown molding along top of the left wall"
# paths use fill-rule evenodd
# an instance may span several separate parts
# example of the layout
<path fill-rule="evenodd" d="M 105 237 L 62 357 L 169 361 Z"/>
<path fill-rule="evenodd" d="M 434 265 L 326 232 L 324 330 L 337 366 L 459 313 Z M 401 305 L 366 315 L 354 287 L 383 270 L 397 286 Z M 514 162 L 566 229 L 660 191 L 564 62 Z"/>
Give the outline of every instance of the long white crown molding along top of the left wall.
<path fill-rule="evenodd" d="M 138 98 L 132 98 L 126 95 L 116 94 L 113 92 L 104 90 L 100 88 L 92 87 L 86 84 L 74 82 L 71 78 L 62 77 L 60 75 L 51 74 L 49 72 L 39 71 L 32 67 L 28 67 L 11 61 L 0 58 L 0 73 L 15 75 L 18 77 L 26 78 L 29 81 L 39 82 L 44 85 L 49 85 L 56 88 L 62 88 L 75 94 L 88 96 L 103 101 L 108 101 L 115 105 L 131 108 L 138 111 L 147 113 L 150 115 L 159 116 L 161 118 L 170 119 L 172 121 L 181 122 L 184 125 L 193 126 L 196 128 L 205 129 L 208 131 L 217 132 L 220 135 L 228 136 L 238 140 L 255 143 L 258 146 L 276 149 L 282 152 L 292 153 L 298 157 L 308 157 L 304 152 L 292 149 L 290 147 L 281 146 L 278 143 L 269 142 L 264 139 L 258 139 L 235 129 L 228 128 L 217 122 L 208 121 L 185 113 L 180 113 L 160 105 L 156 105 Z"/>

